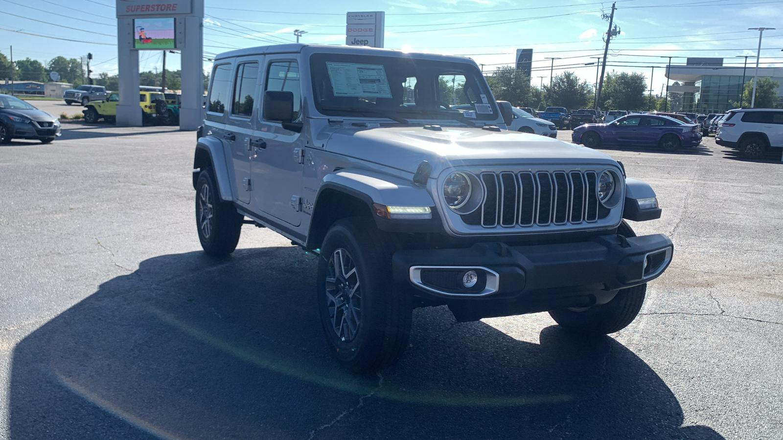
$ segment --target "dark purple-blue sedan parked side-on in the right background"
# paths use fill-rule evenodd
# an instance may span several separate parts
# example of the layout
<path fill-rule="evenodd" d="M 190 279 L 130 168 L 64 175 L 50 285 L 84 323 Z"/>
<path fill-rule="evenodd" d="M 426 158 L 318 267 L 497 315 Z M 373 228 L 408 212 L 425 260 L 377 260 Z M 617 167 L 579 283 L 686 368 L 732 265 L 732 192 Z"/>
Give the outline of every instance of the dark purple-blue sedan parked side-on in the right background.
<path fill-rule="evenodd" d="M 609 124 L 584 124 L 571 135 L 571 141 L 590 148 L 602 145 L 659 146 L 675 151 L 682 146 L 702 142 L 698 124 L 685 124 L 672 117 L 654 114 L 629 114 Z"/>

